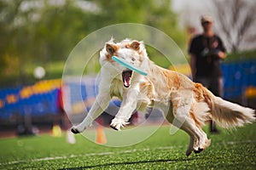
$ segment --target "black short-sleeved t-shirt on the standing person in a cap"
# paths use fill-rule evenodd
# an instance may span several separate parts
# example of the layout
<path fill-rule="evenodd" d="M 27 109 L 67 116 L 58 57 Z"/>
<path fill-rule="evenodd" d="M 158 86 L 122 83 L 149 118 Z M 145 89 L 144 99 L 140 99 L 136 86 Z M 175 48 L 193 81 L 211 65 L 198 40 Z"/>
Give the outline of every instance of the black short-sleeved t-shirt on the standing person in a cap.
<path fill-rule="evenodd" d="M 195 77 L 222 77 L 218 51 L 226 52 L 221 39 L 214 35 L 196 36 L 189 46 L 189 54 L 195 55 Z"/>

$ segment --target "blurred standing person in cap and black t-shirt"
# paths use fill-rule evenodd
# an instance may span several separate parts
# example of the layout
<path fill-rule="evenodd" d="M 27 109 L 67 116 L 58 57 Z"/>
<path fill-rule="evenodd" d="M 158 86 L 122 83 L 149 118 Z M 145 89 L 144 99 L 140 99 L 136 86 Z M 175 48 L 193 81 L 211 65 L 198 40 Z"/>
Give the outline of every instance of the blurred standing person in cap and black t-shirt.
<path fill-rule="evenodd" d="M 212 94 L 223 97 L 223 72 L 220 61 L 226 58 L 226 48 L 218 35 L 212 31 L 212 16 L 201 16 L 203 32 L 192 38 L 189 45 L 190 67 L 194 82 L 200 82 Z M 218 133 L 210 121 L 210 132 Z"/>

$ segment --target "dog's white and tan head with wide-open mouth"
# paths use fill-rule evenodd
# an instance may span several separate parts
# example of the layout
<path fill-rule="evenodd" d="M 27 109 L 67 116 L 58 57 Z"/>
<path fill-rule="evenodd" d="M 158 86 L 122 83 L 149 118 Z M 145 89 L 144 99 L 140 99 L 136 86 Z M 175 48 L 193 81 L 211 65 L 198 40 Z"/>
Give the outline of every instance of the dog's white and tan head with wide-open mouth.
<path fill-rule="evenodd" d="M 108 62 L 108 64 L 113 65 L 114 69 L 122 73 L 121 75 L 125 88 L 129 88 L 131 85 L 131 78 L 134 75 L 133 71 L 115 62 L 112 59 L 112 56 L 125 59 L 125 61 L 131 65 L 141 68 L 143 66 L 143 61 L 148 59 L 148 54 L 146 53 L 146 48 L 144 47 L 143 42 L 138 42 L 137 40 L 131 41 L 130 39 L 125 39 L 121 42 L 113 42 L 113 39 L 111 39 L 109 42 L 105 43 L 100 55 L 102 66 Z"/>

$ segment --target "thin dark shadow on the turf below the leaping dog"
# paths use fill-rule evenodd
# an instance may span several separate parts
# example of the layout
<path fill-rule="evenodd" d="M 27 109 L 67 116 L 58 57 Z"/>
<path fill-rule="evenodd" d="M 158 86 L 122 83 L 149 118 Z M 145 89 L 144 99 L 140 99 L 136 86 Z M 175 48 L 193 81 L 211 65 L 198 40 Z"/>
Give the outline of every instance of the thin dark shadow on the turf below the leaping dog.
<path fill-rule="evenodd" d="M 158 163 L 158 162 L 176 162 L 176 161 L 191 161 L 197 159 L 196 157 L 193 158 L 186 158 L 186 159 L 160 159 L 160 160 L 145 160 L 145 161 L 122 161 L 122 162 L 112 162 L 112 163 L 104 163 L 99 165 L 90 165 L 90 166 L 84 166 L 84 167 L 67 167 L 67 168 L 61 168 L 59 170 L 79 170 L 79 169 L 86 169 L 86 168 L 103 168 L 103 167 L 109 167 L 109 166 L 117 166 L 117 165 L 134 165 L 134 164 L 143 164 L 143 163 Z"/>

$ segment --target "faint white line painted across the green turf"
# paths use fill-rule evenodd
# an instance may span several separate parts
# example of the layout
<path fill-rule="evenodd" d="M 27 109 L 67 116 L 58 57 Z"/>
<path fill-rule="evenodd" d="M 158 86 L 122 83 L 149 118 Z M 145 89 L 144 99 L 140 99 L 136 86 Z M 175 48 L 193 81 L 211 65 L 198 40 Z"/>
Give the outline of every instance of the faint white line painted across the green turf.
<path fill-rule="evenodd" d="M 256 140 L 243 140 L 243 141 L 229 141 L 226 144 L 244 144 L 244 143 L 256 143 Z M 224 142 L 219 142 L 217 144 L 224 144 Z M 143 148 L 143 149 L 134 149 L 134 150 L 122 150 L 118 152 L 99 152 L 99 153 L 88 153 L 84 155 L 71 155 L 71 156 L 53 156 L 53 157 L 43 157 L 38 159 L 32 160 L 17 160 L 17 161 L 7 161 L 7 162 L 0 162 L 0 166 L 2 165 L 14 165 L 18 163 L 24 163 L 27 161 L 51 161 L 51 160 L 59 160 L 59 159 L 67 159 L 67 158 L 74 158 L 74 157 L 82 157 L 82 156 L 106 156 L 106 155 L 114 155 L 114 154 L 125 154 L 125 153 L 132 153 L 137 151 L 148 151 L 148 150 L 172 150 L 173 148 L 183 148 L 183 145 L 179 146 L 162 146 L 156 148 Z"/>

